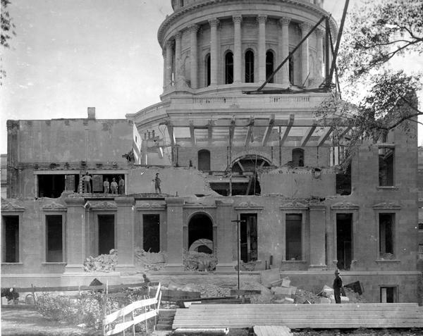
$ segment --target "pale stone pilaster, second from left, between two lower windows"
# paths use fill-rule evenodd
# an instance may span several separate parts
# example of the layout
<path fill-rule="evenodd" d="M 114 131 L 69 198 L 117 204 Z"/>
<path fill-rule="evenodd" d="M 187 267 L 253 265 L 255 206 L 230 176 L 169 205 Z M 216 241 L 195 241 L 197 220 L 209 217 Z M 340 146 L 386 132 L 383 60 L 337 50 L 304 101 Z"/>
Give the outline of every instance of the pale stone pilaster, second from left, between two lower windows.
<path fill-rule="evenodd" d="M 133 197 L 116 197 L 116 249 L 118 249 L 117 271 L 129 271 L 134 266 L 134 210 Z"/>

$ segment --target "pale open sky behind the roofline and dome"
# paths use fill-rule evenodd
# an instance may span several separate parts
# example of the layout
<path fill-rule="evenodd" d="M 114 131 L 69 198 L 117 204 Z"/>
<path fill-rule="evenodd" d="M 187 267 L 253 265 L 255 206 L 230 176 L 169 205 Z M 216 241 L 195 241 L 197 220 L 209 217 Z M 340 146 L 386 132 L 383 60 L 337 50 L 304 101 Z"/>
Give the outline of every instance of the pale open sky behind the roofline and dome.
<path fill-rule="evenodd" d="M 339 21 L 344 1 L 324 4 Z M 8 9 L 16 36 L 1 50 L 0 153 L 8 119 L 87 118 L 88 106 L 98 119 L 125 118 L 160 101 L 157 30 L 171 0 L 12 0 Z M 417 60 L 401 67 L 416 64 L 423 70 Z"/>

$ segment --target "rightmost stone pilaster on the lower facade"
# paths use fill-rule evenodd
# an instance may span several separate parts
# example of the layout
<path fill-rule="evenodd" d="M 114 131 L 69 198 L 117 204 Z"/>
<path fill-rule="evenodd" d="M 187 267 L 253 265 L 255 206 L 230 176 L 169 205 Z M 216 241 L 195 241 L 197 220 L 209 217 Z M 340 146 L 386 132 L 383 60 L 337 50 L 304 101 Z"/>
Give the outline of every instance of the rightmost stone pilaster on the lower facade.
<path fill-rule="evenodd" d="M 326 206 L 323 204 L 309 204 L 310 211 L 310 265 L 312 269 L 326 268 L 325 235 L 326 235 Z"/>

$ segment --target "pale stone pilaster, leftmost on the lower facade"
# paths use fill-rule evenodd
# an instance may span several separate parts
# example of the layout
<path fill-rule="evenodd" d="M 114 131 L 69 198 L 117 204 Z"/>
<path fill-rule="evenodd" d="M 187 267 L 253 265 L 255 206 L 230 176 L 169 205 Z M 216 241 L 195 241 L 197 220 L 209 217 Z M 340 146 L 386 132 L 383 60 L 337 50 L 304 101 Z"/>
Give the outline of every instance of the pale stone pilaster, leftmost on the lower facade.
<path fill-rule="evenodd" d="M 65 273 L 83 272 L 85 260 L 85 199 L 65 199 L 66 213 L 66 268 Z"/>

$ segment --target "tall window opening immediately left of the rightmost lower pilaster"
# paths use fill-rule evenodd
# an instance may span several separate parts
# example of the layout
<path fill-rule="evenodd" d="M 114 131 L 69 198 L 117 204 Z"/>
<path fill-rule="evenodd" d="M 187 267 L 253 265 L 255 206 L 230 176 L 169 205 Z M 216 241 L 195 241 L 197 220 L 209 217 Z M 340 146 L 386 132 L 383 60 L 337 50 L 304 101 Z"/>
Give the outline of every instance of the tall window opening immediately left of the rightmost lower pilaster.
<path fill-rule="evenodd" d="M 286 260 L 302 260 L 301 227 L 301 213 L 290 213 L 286 215 Z"/>

